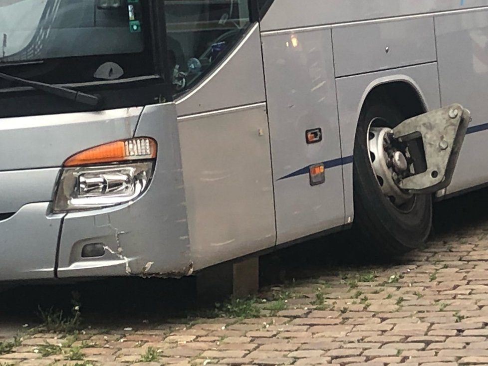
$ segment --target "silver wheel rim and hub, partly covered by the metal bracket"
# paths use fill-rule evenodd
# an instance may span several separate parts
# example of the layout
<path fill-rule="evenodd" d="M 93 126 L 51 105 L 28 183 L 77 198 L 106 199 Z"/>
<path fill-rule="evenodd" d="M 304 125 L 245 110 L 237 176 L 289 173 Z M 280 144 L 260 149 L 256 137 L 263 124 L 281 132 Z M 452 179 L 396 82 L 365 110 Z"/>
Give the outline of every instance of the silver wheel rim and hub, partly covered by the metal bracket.
<path fill-rule="evenodd" d="M 368 150 L 371 167 L 383 194 L 395 206 L 400 206 L 412 198 L 412 194 L 398 186 L 401 177 L 409 170 L 408 152 L 391 145 L 391 134 L 389 128 L 371 127 L 368 132 Z"/>

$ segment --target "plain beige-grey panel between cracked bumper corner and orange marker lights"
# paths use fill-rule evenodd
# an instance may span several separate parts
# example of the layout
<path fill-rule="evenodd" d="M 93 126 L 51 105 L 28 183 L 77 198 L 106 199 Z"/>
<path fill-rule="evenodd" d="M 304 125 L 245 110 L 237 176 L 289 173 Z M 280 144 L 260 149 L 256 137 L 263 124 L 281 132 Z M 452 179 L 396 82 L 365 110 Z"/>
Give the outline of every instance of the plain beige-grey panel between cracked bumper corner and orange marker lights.
<path fill-rule="evenodd" d="M 180 118 L 179 131 L 195 269 L 274 246 L 265 103 Z"/>

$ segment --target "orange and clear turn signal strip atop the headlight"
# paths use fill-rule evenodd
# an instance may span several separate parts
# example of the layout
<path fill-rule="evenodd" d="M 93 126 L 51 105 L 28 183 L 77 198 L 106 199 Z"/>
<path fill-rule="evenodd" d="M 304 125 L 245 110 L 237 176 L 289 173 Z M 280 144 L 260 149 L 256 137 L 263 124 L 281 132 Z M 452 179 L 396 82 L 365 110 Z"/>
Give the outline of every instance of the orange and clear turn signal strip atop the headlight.
<path fill-rule="evenodd" d="M 115 141 L 96 146 L 73 155 L 64 162 L 65 167 L 78 165 L 115 163 L 127 160 L 154 159 L 156 142 L 148 137 Z"/>

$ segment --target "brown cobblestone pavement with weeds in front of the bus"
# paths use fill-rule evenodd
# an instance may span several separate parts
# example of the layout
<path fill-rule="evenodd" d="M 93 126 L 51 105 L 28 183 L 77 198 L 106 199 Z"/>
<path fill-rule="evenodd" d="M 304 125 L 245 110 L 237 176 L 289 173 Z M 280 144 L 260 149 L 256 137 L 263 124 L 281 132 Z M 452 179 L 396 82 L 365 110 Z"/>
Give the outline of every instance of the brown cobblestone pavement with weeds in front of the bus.
<path fill-rule="evenodd" d="M 488 365 L 487 234 L 477 223 L 399 265 L 323 269 L 226 317 L 30 334 L 0 365 Z"/>

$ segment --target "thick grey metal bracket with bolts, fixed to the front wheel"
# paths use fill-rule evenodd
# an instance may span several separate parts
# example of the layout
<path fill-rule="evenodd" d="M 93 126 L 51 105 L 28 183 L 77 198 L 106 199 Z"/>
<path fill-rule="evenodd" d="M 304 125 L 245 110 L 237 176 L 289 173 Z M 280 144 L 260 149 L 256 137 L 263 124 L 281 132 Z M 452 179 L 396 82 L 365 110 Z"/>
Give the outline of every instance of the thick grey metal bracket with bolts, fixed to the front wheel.
<path fill-rule="evenodd" d="M 398 182 L 410 193 L 429 194 L 446 188 L 464 142 L 471 112 L 460 104 L 452 104 L 409 118 L 393 129 L 393 140 L 408 143 L 422 138 L 426 170 Z"/>

